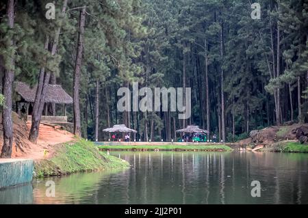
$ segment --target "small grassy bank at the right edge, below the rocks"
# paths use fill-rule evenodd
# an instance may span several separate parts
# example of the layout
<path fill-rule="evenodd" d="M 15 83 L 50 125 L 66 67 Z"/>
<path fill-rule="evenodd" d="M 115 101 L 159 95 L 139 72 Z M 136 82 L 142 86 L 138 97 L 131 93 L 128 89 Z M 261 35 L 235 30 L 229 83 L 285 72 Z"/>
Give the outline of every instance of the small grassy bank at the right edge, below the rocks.
<path fill-rule="evenodd" d="M 281 141 L 270 148 L 264 148 L 264 152 L 291 152 L 291 153 L 308 153 L 308 145 L 300 144 L 294 141 Z"/>

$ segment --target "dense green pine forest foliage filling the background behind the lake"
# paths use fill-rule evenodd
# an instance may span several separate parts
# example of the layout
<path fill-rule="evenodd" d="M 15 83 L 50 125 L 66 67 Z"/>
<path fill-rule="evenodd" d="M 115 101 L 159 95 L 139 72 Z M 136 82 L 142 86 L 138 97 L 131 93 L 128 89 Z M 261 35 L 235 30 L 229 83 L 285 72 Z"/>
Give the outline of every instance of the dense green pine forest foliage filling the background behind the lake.
<path fill-rule="evenodd" d="M 284 121 L 291 119 L 291 105 L 294 118 L 300 111 L 308 111 L 308 105 L 303 103 L 303 98 L 307 98 L 308 70 L 305 1 L 260 0 L 259 21 L 251 19 L 251 4 L 244 0 L 78 0 L 68 1 L 63 17 L 60 16 L 63 1 L 56 1 L 56 19 L 50 21 L 44 17 L 44 5 L 48 2 L 18 1 L 14 29 L 8 28 L 6 16 L 1 16 L 1 64 L 4 69 L 11 69 L 10 57 L 14 55 L 16 64 L 12 70 L 16 81 L 30 85 L 37 83 L 40 68 L 50 70 L 57 83 L 72 95 L 79 7 L 86 5 L 80 87 L 84 137 L 93 137 L 97 81 L 99 133 L 113 124 L 126 124 L 138 131 L 138 139 L 150 135 L 152 123 L 153 137 L 166 139 L 173 133 L 173 123 L 172 131 L 168 130 L 173 118 L 177 129 L 183 128 L 183 120 L 177 119 L 176 112 L 166 118 L 159 112 L 117 111 L 118 88 L 131 87 L 133 82 L 138 82 L 140 88 L 182 87 L 183 83 L 192 87 L 191 122 L 206 128 L 206 101 L 209 100 L 211 133 L 218 133 L 222 91 L 228 141 L 233 140 L 230 134 L 233 126 L 238 141 L 251 129 L 275 124 L 274 98 L 278 90 Z M 5 3 L 0 3 L 0 8 L 5 8 Z M 61 31 L 57 53 L 51 55 L 50 48 L 44 49 L 44 43 L 49 36 L 51 47 L 58 28 Z M 12 38 L 14 46 L 8 46 Z M 280 51 L 277 51 L 278 39 Z M 279 72 L 277 56 L 281 57 Z M 208 87 L 205 86 L 206 67 Z M 296 96 L 298 79 L 301 107 Z M 206 88 L 209 99 L 206 99 Z M 308 114 L 302 113 L 300 120 L 305 118 L 308 120 Z M 68 119 L 73 119 L 72 107 L 68 107 Z M 100 137 L 103 139 L 102 134 Z"/>

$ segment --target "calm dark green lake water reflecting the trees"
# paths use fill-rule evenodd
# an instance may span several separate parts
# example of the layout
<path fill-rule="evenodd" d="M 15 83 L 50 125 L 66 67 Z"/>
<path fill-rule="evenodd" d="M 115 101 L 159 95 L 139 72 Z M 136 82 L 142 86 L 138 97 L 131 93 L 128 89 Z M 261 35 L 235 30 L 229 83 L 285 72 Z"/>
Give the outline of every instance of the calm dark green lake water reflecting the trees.
<path fill-rule="evenodd" d="M 111 154 L 131 168 L 34 180 L 0 191 L 0 204 L 308 204 L 308 154 Z M 46 196 L 47 180 L 55 197 Z M 261 197 L 251 196 L 254 180 Z"/>

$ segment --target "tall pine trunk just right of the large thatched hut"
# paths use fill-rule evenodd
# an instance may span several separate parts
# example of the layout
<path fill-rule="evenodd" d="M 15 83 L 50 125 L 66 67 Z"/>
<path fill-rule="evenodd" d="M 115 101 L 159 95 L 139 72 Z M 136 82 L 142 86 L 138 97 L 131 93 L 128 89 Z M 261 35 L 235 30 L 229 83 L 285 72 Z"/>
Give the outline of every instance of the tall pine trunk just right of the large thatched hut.
<path fill-rule="evenodd" d="M 81 136 L 80 105 L 79 105 L 79 83 L 81 74 L 81 59 L 84 46 L 84 23 L 86 21 L 86 7 L 82 8 L 79 16 L 79 31 L 77 55 L 74 70 L 74 87 L 73 87 L 73 107 L 74 107 L 74 134 Z"/>

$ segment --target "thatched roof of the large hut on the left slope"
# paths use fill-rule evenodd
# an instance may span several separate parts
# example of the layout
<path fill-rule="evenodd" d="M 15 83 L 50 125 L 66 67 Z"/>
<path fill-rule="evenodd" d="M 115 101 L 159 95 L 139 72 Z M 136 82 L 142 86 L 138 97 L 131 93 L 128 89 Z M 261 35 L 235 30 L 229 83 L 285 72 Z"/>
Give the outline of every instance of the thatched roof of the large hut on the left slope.
<path fill-rule="evenodd" d="M 36 86 L 30 88 L 29 85 L 22 82 L 15 82 L 15 91 L 28 103 L 34 103 L 36 98 Z M 61 85 L 48 85 L 45 103 L 73 104 L 73 98 L 70 97 Z"/>

